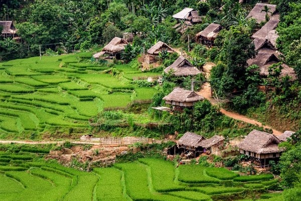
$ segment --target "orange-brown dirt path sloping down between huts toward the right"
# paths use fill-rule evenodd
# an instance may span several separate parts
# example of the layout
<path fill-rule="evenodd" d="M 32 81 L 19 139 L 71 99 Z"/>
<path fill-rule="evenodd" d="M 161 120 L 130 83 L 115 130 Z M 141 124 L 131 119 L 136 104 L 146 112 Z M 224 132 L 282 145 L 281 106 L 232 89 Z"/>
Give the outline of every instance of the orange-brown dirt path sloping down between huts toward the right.
<path fill-rule="evenodd" d="M 201 89 L 198 94 L 202 95 L 203 97 L 207 98 L 213 105 L 218 105 L 218 102 L 216 99 L 210 97 L 210 84 L 208 82 L 206 82 L 204 85 L 203 85 L 203 89 Z M 240 114 L 237 114 L 237 113 L 233 113 L 233 112 L 229 112 L 229 111 L 226 111 L 225 109 L 220 109 L 221 113 L 223 113 L 224 115 L 228 116 L 228 117 L 231 117 L 233 119 L 236 119 L 236 120 L 239 120 L 239 121 L 243 121 L 243 122 L 246 122 L 246 123 L 249 123 L 249 124 L 253 124 L 253 125 L 257 125 L 257 126 L 262 126 L 263 128 L 265 129 L 272 129 L 273 130 L 273 134 L 274 135 L 281 135 L 282 132 L 280 131 L 277 131 L 273 128 L 271 128 L 270 126 L 263 126 L 262 123 L 256 121 L 256 120 L 253 120 L 253 119 L 250 119 L 246 116 L 243 116 L 243 115 L 240 115 Z"/>

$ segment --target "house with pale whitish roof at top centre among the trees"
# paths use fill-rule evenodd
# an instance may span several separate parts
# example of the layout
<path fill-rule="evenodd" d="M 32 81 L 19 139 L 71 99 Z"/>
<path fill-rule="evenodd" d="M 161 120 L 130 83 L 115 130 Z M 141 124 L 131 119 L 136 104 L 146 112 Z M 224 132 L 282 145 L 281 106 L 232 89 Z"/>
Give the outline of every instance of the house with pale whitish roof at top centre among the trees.
<path fill-rule="evenodd" d="M 178 21 L 178 24 L 176 24 L 174 28 L 182 34 L 188 27 L 202 22 L 202 17 L 199 16 L 198 11 L 191 8 L 183 9 L 173 15 L 173 18 Z"/>

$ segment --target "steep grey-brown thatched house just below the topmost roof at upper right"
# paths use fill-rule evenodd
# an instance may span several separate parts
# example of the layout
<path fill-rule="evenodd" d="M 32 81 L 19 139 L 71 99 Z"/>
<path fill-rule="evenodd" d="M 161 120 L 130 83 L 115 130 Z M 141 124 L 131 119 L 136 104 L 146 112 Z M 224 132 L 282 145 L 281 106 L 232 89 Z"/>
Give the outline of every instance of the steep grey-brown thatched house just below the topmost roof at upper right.
<path fill-rule="evenodd" d="M 280 21 L 279 14 L 275 14 L 271 19 L 265 23 L 255 34 L 252 35 L 255 50 L 262 48 L 264 45 L 269 45 L 270 48 L 275 49 L 276 37 L 275 28 Z"/>

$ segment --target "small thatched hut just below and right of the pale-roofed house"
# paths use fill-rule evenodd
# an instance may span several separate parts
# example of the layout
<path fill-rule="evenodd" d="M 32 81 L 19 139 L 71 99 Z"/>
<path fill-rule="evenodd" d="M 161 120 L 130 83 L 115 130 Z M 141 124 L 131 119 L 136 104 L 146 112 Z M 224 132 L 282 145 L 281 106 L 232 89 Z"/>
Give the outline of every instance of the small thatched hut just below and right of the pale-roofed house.
<path fill-rule="evenodd" d="M 209 47 L 214 46 L 214 40 L 221 29 L 221 25 L 211 23 L 208 27 L 196 35 L 196 42 Z"/>

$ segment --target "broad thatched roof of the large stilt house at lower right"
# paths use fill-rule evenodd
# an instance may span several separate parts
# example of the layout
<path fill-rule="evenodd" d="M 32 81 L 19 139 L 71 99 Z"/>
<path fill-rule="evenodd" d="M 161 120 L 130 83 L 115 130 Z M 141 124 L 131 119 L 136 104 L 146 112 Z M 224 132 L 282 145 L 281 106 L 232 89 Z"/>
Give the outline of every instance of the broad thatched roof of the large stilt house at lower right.
<path fill-rule="evenodd" d="M 253 130 L 238 145 L 239 149 L 254 152 L 257 154 L 278 153 L 281 141 L 273 134 Z"/>

